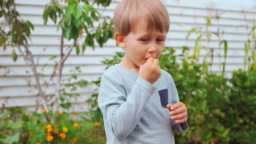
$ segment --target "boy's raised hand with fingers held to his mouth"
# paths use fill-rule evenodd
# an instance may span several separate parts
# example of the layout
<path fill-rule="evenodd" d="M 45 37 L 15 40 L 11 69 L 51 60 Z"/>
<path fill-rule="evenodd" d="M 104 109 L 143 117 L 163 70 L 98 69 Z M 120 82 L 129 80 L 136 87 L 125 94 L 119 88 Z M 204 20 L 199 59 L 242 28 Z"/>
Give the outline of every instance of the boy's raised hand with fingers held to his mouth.
<path fill-rule="evenodd" d="M 140 66 L 139 76 L 151 85 L 161 77 L 161 70 L 158 59 L 150 57 L 147 62 Z"/>

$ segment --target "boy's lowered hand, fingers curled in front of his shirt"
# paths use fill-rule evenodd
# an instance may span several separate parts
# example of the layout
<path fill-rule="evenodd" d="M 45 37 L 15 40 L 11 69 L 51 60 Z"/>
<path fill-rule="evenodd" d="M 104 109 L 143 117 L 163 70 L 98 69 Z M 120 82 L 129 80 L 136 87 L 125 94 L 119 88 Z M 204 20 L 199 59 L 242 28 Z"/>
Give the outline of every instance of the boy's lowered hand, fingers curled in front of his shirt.
<path fill-rule="evenodd" d="M 175 120 L 175 123 L 181 124 L 187 121 L 187 107 L 184 103 L 168 104 L 166 108 L 170 111 L 171 119 Z"/>

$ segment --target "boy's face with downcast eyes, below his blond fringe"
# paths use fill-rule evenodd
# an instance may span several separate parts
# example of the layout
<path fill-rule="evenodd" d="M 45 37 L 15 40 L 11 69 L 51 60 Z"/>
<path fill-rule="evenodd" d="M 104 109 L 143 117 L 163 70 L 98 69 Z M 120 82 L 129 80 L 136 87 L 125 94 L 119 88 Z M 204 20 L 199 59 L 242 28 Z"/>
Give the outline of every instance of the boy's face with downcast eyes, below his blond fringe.
<path fill-rule="evenodd" d="M 148 24 L 141 20 L 136 25 L 135 33 L 129 33 L 124 37 L 125 56 L 121 65 L 127 69 L 139 72 L 139 68 L 149 57 L 158 59 L 163 52 L 167 32 L 150 31 Z"/>

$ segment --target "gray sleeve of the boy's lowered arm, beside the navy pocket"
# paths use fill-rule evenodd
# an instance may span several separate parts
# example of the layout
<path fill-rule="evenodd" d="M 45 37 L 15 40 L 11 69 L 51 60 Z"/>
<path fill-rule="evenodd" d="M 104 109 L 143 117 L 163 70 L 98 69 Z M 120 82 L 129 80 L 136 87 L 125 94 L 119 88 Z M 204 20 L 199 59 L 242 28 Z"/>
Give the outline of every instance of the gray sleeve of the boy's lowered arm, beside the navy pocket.
<path fill-rule="evenodd" d="M 171 75 L 170 75 L 170 77 L 171 77 Z M 174 80 L 171 77 L 171 105 L 174 105 L 179 101 L 180 100 L 179 100 L 179 95 L 178 95 L 178 92 L 177 92 L 177 88 L 175 86 Z M 171 119 L 171 124 L 172 124 L 173 129 L 174 129 L 175 132 L 181 133 L 181 132 L 184 132 L 184 131 L 188 130 L 187 121 L 182 123 L 182 124 L 177 124 L 177 123 L 175 123 L 175 120 Z"/>

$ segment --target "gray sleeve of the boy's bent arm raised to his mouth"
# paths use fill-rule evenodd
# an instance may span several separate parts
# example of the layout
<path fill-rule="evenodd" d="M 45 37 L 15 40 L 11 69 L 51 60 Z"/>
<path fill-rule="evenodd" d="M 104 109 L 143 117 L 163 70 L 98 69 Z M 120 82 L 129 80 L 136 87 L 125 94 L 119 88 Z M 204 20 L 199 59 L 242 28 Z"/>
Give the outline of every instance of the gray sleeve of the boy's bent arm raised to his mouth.
<path fill-rule="evenodd" d="M 103 75 L 98 95 L 98 106 L 104 124 L 112 129 L 119 139 L 127 137 L 138 124 L 142 112 L 156 88 L 138 77 L 131 92 L 126 95 L 125 86 L 107 75 Z"/>

